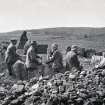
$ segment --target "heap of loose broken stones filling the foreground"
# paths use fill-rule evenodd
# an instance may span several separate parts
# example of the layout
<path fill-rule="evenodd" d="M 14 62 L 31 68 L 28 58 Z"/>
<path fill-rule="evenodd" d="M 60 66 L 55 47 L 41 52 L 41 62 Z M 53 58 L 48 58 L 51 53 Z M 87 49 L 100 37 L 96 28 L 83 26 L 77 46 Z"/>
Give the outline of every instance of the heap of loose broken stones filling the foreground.
<path fill-rule="evenodd" d="M 105 70 L 66 71 L 4 87 L 0 105 L 104 105 Z"/>

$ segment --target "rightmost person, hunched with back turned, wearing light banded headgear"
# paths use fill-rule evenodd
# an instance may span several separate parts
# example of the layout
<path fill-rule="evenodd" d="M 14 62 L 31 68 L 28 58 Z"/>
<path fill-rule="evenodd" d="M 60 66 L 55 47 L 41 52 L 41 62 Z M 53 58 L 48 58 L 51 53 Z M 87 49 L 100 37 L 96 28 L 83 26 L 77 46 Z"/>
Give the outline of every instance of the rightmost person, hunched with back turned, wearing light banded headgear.
<path fill-rule="evenodd" d="M 74 68 L 74 67 L 78 70 L 80 70 L 80 68 L 81 68 L 80 62 L 79 62 L 78 56 L 77 56 L 77 49 L 78 49 L 78 46 L 72 45 L 71 51 L 69 51 L 66 54 L 65 61 L 66 61 L 66 70 L 67 71 L 72 70 L 72 68 Z"/>

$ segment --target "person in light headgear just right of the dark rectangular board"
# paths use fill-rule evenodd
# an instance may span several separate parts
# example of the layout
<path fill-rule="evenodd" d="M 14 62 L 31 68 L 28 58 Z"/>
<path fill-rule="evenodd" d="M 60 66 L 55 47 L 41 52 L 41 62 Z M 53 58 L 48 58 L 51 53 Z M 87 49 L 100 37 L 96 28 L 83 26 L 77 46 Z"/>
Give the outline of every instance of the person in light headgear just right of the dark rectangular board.
<path fill-rule="evenodd" d="M 46 63 L 51 64 L 53 73 L 61 72 L 60 70 L 63 68 L 63 58 L 61 52 L 58 50 L 58 44 L 53 43 L 49 53 Z"/>

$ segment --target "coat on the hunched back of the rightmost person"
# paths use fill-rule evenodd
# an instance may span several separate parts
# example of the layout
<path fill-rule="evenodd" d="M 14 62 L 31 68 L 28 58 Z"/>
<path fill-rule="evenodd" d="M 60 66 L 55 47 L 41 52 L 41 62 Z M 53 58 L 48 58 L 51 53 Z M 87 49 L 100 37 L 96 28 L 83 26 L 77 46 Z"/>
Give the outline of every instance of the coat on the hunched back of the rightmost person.
<path fill-rule="evenodd" d="M 74 51 L 69 51 L 65 57 L 66 69 L 71 70 L 73 67 L 76 69 L 80 68 L 80 62 L 78 60 L 77 54 Z"/>

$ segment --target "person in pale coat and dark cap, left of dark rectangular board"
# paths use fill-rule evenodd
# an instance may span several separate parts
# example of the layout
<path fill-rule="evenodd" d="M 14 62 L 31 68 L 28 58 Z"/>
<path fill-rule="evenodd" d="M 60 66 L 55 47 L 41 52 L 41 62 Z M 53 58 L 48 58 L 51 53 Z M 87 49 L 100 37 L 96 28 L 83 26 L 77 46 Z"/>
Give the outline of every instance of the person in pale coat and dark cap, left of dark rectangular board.
<path fill-rule="evenodd" d="M 43 65 L 39 62 L 40 57 L 37 55 L 37 43 L 33 41 L 27 50 L 26 54 L 26 70 L 28 72 L 28 79 L 43 75 Z"/>

